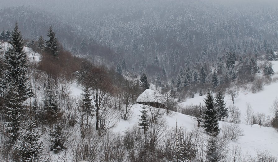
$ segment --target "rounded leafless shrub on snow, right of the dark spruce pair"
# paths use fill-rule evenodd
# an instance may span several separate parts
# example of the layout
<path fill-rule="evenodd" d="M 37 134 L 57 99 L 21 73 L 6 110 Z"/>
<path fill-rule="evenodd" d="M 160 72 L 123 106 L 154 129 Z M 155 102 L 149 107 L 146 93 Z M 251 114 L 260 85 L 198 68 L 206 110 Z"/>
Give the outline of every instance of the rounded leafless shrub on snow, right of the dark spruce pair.
<path fill-rule="evenodd" d="M 244 135 L 243 130 L 239 127 L 239 125 L 234 123 L 224 123 L 221 131 L 224 138 L 232 141 L 237 141 L 240 136 Z"/>

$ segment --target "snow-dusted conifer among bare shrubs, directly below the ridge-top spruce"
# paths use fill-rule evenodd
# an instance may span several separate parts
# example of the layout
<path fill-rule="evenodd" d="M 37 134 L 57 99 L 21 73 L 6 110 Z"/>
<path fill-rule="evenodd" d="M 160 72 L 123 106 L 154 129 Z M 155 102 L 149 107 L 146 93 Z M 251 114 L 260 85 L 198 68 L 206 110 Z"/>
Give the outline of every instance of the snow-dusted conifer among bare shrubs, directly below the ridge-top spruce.
<path fill-rule="evenodd" d="M 44 116 L 46 117 L 46 120 L 56 121 L 60 113 L 57 94 L 55 94 L 52 90 L 46 92 L 44 94 L 43 104 L 44 104 Z"/>

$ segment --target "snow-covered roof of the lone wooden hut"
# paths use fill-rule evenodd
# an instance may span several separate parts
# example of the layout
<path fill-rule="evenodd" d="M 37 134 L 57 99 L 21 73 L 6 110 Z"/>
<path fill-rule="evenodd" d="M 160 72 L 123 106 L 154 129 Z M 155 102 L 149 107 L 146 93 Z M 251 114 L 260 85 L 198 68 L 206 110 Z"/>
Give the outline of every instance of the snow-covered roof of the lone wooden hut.
<path fill-rule="evenodd" d="M 163 96 L 157 91 L 146 89 L 139 95 L 136 102 L 160 102 L 164 103 Z"/>

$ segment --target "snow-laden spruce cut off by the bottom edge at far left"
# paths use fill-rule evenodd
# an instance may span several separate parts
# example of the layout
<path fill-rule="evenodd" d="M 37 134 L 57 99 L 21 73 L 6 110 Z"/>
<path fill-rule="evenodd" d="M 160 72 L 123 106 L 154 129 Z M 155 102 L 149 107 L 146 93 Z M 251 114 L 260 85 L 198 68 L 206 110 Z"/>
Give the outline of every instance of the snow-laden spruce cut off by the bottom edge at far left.
<path fill-rule="evenodd" d="M 20 133 L 19 140 L 17 140 L 14 149 L 19 161 L 34 162 L 45 160 L 43 149 L 43 142 L 39 142 L 42 136 L 42 131 L 36 129 L 34 116 L 29 114 L 23 123 L 24 130 Z"/>

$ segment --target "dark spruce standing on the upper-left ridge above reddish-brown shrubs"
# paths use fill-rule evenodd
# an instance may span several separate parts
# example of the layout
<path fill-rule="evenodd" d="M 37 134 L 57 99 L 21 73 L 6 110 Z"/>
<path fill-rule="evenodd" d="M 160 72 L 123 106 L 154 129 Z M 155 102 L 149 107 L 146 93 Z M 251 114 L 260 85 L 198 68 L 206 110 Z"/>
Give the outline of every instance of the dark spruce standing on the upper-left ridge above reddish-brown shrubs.
<path fill-rule="evenodd" d="M 57 38 L 55 37 L 55 32 L 52 31 L 52 26 L 49 27 L 47 36 L 49 37 L 49 40 L 45 40 L 46 51 L 48 51 L 53 56 L 57 56 L 59 46 Z"/>

